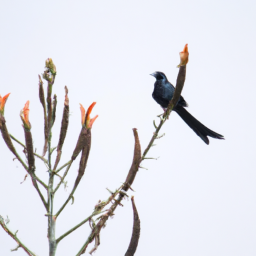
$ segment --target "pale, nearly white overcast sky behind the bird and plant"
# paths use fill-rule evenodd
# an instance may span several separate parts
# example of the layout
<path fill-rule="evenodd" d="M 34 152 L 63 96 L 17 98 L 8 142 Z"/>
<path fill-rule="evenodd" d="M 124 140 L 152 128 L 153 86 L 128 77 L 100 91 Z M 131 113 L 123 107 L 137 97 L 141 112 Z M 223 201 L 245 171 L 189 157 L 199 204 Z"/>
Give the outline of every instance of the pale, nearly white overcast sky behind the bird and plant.
<path fill-rule="evenodd" d="M 97 104 L 92 148 L 85 175 L 57 221 L 59 237 L 88 217 L 99 199 L 124 182 L 133 157 L 132 128 L 144 150 L 153 120 L 162 113 L 152 99 L 162 71 L 175 84 L 179 52 L 190 52 L 183 97 L 187 109 L 225 140 L 210 145 L 176 114 L 165 137 L 148 156 L 133 184 L 141 219 L 136 255 L 255 256 L 255 2 L 254 1 L 2 1 L 1 96 L 11 92 L 5 108 L 9 132 L 24 142 L 19 112 L 30 100 L 34 146 L 43 148 L 43 110 L 38 74 L 51 57 L 57 67 L 53 93 L 58 96 L 53 146 L 57 145 L 69 88 L 70 126 L 60 165 L 73 152 L 81 129 L 79 103 Z M 45 83 L 46 88 L 46 83 Z M 16 148 L 22 155 L 19 145 Z M 18 161 L 0 139 L 0 215 L 37 255 L 48 254 L 45 209 Z M 36 160 L 45 182 L 46 168 Z M 79 157 L 69 175 L 68 190 L 55 197 L 55 211 L 66 200 L 77 175 Z M 58 180 L 57 178 L 55 180 Z M 124 201 L 101 232 L 97 256 L 124 255 L 131 237 L 131 202 Z M 54 212 L 55 212 L 54 211 Z M 60 242 L 56 255 L 76 255 L 89 235 L 85 224 Z M 16 242 L 0 229 L 1 255 Z M 85 255 L 93 247 L 90 245 Z"/>

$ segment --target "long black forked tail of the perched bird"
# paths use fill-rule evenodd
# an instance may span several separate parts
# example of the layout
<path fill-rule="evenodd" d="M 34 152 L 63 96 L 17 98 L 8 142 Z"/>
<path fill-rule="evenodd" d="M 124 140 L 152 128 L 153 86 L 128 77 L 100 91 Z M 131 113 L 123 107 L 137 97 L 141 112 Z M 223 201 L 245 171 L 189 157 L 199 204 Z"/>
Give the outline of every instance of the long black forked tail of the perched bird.
<path fill-rule="evenodd" d="M 223 135 L 218 134 L 204 126 L 196 118 L 194 118 L 185 108 L 181 106 L 176 106 L 174 110 L 207 145 L 209 145 L 209 139 L 207 136 L 210 136 L 214 139 L 224 140 Z"/>

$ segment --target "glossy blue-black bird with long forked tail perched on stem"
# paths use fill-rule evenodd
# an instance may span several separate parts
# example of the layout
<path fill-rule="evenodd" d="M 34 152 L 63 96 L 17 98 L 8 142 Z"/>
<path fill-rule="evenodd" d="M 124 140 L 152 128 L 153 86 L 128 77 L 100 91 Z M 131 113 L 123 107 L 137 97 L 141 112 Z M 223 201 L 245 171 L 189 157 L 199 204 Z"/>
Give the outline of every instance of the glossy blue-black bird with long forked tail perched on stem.
<path fill-rule="evenodd" d="M 168 81 L 166 75 L 162 72 L 155 72 L 151 74 L 156 78 L 155 88 L 153 91 L 153 99 L 161 105 L 165 110 L 168 107 L 170 100 L 174 94 L 174 86 Z M 187 107 L 188 104 L 182 96 L 174 107 L 175 111 L 185 122 L 186 124 L 207 144 L 209 145 L 209 139 L 207 136 L 210 136 L 215 139 L 224 139 L 221 134 L 218 134 L 202 123 L 195 119 L 184 107 Z"/>

